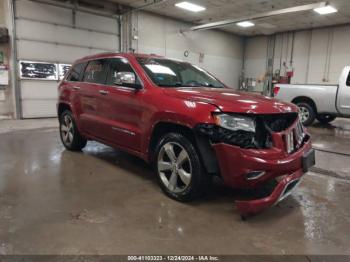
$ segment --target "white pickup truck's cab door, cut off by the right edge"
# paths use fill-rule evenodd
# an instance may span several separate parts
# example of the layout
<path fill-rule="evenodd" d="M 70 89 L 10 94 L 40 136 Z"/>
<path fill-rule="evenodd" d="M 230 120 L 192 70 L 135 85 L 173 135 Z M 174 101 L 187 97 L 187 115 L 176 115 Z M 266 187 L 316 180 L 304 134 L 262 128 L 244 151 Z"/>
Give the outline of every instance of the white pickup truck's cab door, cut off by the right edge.
<path fill-rule="evenodd" d="M 341 114 L 350 116 L 350 66 L 344 68 L 339 79 L 337 108 Z"/>

